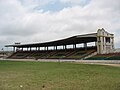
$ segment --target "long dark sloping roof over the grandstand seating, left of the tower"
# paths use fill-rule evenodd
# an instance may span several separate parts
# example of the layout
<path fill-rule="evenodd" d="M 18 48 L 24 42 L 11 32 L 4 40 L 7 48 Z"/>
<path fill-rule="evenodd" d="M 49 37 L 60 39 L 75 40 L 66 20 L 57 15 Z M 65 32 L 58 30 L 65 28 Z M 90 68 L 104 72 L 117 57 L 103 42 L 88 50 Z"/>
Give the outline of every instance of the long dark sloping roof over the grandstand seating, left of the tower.
<path fill-rule="evenodd" d="M 97 33 L 77 35 L 51 42 L 34 43 L 34 44 L 14 44 L 14 45 L 6 45 L 5 47 L 47 47 L 47 46 L 80 44 L 80 43 L 87 43 L 94 41 L 97 41 Z"/>

